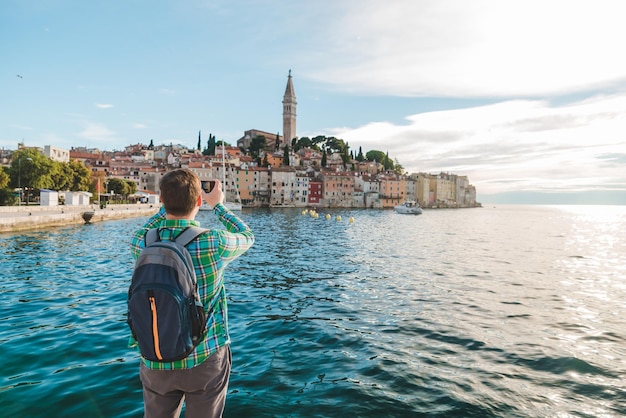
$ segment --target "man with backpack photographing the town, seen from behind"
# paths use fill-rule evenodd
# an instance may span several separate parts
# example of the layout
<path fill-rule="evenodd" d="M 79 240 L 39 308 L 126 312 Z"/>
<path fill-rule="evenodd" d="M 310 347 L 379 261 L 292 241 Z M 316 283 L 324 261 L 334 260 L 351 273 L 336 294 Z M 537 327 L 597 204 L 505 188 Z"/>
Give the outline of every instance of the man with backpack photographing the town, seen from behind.
<path fill-rule="evenodd" d="M 231 368 L 224 269 L 252 246 L 254 235 L 223 206 L 219 181 L 206 193 L 195 173 L 181 169 L 166 173 L 159 186 L 163 206 L 131 241 L 138 261 L 128 312 L 131 343 L 139 344 L 142 356 L 144 416 L 178 417 L 184 402 L 186 417 L 219 417 Z M 225 230 L 198 230 L 203 201 Z M 193 271 L 186 268 L 189 256 Z M 201 327 L 192 329 L 198 320 Z"/>

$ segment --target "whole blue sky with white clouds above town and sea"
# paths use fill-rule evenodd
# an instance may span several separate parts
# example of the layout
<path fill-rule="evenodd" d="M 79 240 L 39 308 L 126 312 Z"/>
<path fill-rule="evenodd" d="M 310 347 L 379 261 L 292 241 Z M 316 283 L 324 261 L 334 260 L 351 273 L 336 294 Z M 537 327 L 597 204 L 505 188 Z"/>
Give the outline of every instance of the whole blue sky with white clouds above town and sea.
<path fill-rule="evenodd" d="M 0 147 L 281 132 L 291 70 L 298 136 L 467 175 L 486 202 L 626 204 L 625 12 L 620 0 L 3 0 Z"/>

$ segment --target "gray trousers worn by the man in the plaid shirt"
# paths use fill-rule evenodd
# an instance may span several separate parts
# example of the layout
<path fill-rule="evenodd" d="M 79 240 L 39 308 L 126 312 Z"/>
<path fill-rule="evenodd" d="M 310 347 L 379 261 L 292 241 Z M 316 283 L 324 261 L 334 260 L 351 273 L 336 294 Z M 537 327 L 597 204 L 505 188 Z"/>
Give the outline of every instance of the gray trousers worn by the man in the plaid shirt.
<path fill-rule="evenodd" d="M 230 346 L 221 347 L 192 369 L 152 370 L 143 363 L 139 377 L 143 384 L 144 417 L 221 417 L 226 403 L 232 356 Z"/>

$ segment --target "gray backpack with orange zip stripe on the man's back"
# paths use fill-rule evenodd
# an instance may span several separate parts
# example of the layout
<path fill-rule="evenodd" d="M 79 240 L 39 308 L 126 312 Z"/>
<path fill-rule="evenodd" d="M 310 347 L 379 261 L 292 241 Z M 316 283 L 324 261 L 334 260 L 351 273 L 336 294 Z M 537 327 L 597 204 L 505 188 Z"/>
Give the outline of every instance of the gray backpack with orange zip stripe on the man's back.
<path fill-rule="evenodd" d="M 188 227 L 174 241 L 161 241 L 158 229 L 146 233 L 128 289 L 127 322 L 150 361 L 181 360 L 204 336 L 207 313 L 186 245 L 206 231 Z"/>

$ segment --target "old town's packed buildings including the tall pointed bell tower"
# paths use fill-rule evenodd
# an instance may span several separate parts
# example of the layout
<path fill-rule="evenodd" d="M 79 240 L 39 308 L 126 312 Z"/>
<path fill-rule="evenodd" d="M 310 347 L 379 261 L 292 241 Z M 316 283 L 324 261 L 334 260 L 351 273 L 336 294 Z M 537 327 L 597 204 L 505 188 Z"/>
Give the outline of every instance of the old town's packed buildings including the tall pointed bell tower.
<path fill-rule="evenodd" d="M 240 201 L 245 207 L 382 209 L 407 200 L 426 208 L 480 206 L 467 176 L 399 174 L 385 171 L 381 162 L 357 161 L 339 152 L 315 147 L 294 151 L 297 102 L 291 70 L 282 103 L 282 136 L 250 129 L 237 139 L 237 146 L 218 146 L 213 155 L 180 144 L 155 146 L 152 140 L 147 146 L 128 145 L 124 151 L 64 150 L 52 145 L 37 149 L 56 161 L 84 163 L 92 172 L 92 191 L 108 193 L 109 181 L 116 178 L 134 183 L 138 196 L 152 200 L 160 193 L 159 181 L 166 172 L 188 168 L 201 180 L 222 181 L 226 200 Z M 265 147 L 253 158 L 250 147 L 259 137 L 265 138 Z M 23 143 L 18 144 L 18 149 L 24 148 Z M 0 153 L 0 161 L 8 165 L 11 153 L 5 151 Z"/>

